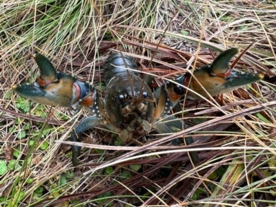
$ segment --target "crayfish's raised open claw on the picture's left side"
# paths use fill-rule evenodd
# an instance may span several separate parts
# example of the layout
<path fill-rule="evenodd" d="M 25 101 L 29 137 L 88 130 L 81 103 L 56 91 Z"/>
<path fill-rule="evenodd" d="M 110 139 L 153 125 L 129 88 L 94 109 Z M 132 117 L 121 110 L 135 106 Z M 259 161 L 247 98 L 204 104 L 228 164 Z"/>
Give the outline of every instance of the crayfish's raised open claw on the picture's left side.
<path fill-rule="evenodd" d="M 34 52 L 33 58 L 39 66 L 40 76 L 30 85 L 13 85 L 17 94 L 53 107 L 71 107 L 90 94 L 90 85 L 77 82 L 77 78 L 70 74 L 57 72 L 48 58 L 39 52 Z"/>

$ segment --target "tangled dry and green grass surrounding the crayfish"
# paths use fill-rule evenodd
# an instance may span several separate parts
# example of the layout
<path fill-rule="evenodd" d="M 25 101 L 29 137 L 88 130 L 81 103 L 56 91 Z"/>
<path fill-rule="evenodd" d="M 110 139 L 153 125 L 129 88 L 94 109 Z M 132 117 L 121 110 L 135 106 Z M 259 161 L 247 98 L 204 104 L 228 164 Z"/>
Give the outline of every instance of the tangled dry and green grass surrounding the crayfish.
<path fill-rule="evenodd" d="M 8 165 L 1 175 L 1 206 L 276 204 L 273 83 L 260 81 L 225 94 L 224 107 L 219 107 L 221 99 L 202 100 L 197 108 L 182 101 L 188 129 L 148 135 L 146 144 L 143 138 L 132 140 L 133 149 L 125 144 L 112 149 L 116 138 L 106 129 L 88 131 L 85 142 L 94 145 L 83 149 L 83 166 L 75 168 L 70 146 L 57 142 L 68 140 L 74 111 L 29 105 L 10 89 L 39 76 L 30 58 L 39 50 L 59 71 L 90 81 L 104 96 L 101 65 L 110 49 L 134 56 L 145 66 L 143 72 L 152 74 L 148 61 L 167 25 L 153 60 L 159 70 L 151 87 L 211 63 L 215 52 L 253 42 L 237 69 L 275 76 L 273 1 L 10 0 L 0 6 L 0 171 Z M 167 146 L 168 140 L 188 134 L 195 145 Z M 187 151 L 199 152 L 197 166 Z"/>

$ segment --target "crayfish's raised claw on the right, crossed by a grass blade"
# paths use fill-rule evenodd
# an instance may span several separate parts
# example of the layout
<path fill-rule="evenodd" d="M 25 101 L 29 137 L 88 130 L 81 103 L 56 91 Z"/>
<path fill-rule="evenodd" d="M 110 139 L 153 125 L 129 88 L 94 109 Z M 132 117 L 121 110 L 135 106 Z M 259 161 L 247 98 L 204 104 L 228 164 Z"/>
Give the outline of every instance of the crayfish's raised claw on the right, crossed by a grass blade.
<path fill-rule="evenodd" d="M 231 48 L 219 54 L 211 65 L 205 65 L 193 72 L 193 78 L 188 74 L 182 81 L 183 85 L 192 91 L 187 91 L 190 99 L 201 99 L 203 97 L 224 94 L 243 85 L 254 83 L 264 78 L 264 74 L 249 74 L 239 72 L 229 66 L 230 59 L 237 54 L 237 48 Z M 197 94 L 193 93 L 197 92 Z"/>

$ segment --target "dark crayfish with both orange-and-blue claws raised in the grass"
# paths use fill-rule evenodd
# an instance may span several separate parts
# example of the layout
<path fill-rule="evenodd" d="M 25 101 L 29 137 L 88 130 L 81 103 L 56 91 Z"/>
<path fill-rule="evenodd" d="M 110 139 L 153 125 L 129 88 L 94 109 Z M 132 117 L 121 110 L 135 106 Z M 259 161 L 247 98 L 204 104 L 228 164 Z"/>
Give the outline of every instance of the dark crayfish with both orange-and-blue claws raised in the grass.
<path fill-rule="evenodd" d="M 226 50 L 219 54 L 212 64 L 195 69 L 193 75 L 181 75 L 173 83 L 167 81 L 155 93 L 152 93 L 148 84 L 139 77 L 134 59 L 113 53 L 103 65 L 105 100 L 101 100 L 92 84 L 80 82 L 70 74 L 57 72 L 45 56 L 35 52 L 34 61 L 39 65 L 41 75 L 35 83 L 14 85 L 12 89 L 17 94 L 43 105 L 82 106 L 92 113 L 92 116 L 81 120 L 72 131 L 72 142 L 80 140 L 83 131 L 98 125 L 106 125 L 123 139 L 128 138 L 130 133 L 134 137 L 143 135 L 151 128 L 159 133 L 172 133 L 169 126 L 179 129 L 186 127 L 180 120 L 167 115 L 183 96 L 192 99 L 199 99 L 201 96 L 208 98 L 264 78 L 262 74 L 248 74 L 231 69 L 228 66 L 230 59 L 238 52 L 237 48 Z M 155 100 L 158 100 L 156 108 Z M 165 124 L 165 120 L 169 122 Z M 187 144 L 193 142 L 193 139 L 190 139 L 186 140 Z M 174 144 L 177 144 L 177 140 L 174 140 Z M 79 147 L 72 146 L 73 165 L 77 165 L 78 152 Z"/>

